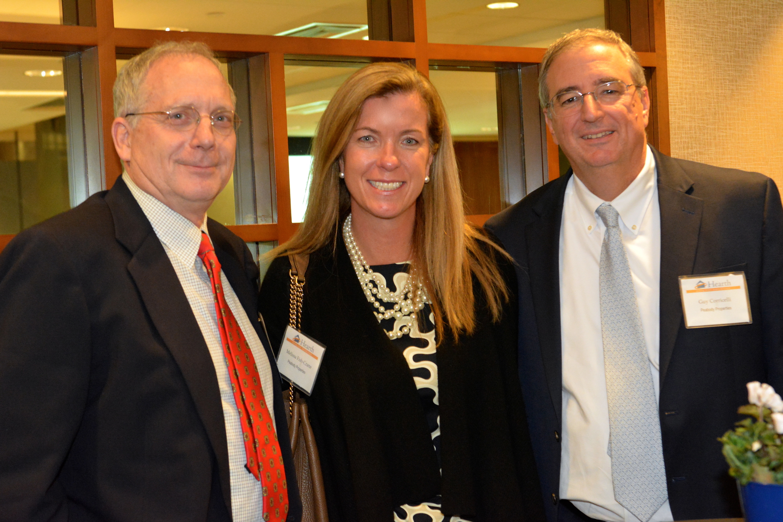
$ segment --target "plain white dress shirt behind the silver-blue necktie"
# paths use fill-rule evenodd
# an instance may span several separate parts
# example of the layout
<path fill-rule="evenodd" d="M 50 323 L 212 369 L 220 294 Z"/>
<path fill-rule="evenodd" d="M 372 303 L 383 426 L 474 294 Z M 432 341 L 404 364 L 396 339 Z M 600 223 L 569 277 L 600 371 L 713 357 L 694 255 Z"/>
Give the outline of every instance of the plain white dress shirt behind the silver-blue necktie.
<path fill-rule="evenodd" d="M 601 337 L 598 269 L 604 226 L 596 209 L 604 203 L 572 176 L 565 189 L 560 229 L 560 319 L 563 358 L 563 427 L 560 497 L 587 516 L 611 522 L 639 521 L 615 500 L 608 455 L 609 409 Z M 661 211 L 655 158 L 647 156 L 637 178 L 615 200 L 622 243 L 644 329 L 650 372 L 659 383 L 659 286 Z M 673 520 L 667 500 L 650 522 Z"/>

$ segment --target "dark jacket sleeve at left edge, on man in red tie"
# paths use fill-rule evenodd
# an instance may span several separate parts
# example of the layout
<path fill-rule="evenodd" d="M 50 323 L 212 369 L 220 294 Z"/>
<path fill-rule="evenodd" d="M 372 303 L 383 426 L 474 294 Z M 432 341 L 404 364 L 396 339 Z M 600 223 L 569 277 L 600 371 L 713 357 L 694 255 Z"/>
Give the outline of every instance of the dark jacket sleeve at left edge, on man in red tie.
<path fill-rule="evenodd" d="M 57 477 L 88 395 L 84 275 L 38 227 L 0 254 L 0 520 L 67 520 Z"/>

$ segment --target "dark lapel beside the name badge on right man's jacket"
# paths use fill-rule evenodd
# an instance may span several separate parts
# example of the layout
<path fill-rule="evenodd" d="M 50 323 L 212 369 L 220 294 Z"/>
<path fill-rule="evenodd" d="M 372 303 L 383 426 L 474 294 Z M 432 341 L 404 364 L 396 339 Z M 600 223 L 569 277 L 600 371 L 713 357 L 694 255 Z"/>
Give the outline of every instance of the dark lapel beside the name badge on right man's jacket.
<path fill-rule="evenodd" d="M 663 383 L 683 321 L 678 278 L 693 273 L 704 202 L 690 195 L 693 182 L 682 167 L 672 158 L 652 150 L 661 207 L 660 382 Z"/>

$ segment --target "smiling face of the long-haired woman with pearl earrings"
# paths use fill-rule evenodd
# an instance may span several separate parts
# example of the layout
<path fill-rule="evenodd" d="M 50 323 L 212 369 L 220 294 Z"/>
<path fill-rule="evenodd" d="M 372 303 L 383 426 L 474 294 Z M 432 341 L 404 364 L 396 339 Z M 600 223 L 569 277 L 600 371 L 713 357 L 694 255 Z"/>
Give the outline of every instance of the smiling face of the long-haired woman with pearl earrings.
<path fill-rule="evenodd" d="M 367 99 L 340 160 L 354 223 L 412 223 L 431 164 L 427 106 L 421 96 Z"/>

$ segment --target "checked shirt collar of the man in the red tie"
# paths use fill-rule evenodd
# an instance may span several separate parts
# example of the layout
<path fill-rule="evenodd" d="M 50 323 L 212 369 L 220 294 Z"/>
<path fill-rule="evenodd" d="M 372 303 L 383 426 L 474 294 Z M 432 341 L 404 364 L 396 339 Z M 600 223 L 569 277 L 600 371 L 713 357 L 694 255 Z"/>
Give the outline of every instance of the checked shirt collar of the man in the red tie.
<path fill-rule="evenodd" d="M 157 239 L 160 239 L 161 243 L 166 245 L 186 266 L 191 265 L 194 258 L 198 256 L 201 232 L 209 236 L 206 226 L 207 214 L 204 214 L 203 224 L 199 228 L 188 218 L 157 200 L 155 196 L 139 189 L 127 172 L 123 173 L 122 180 L 125 185 L 128 185 L 139 207 L 142 207 L 146 218 L 150 220 Z"/>

